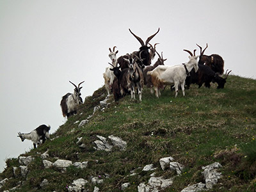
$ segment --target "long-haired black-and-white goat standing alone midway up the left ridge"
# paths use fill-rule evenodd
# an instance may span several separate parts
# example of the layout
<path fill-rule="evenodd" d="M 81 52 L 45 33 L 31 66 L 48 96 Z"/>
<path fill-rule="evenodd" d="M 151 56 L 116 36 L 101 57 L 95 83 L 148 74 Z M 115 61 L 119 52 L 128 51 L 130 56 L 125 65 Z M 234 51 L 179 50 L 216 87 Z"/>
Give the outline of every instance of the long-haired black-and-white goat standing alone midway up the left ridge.
<path fill-rule="evenodd" d="M 76 84 L 72 83 L 71 81 L 69 82 L 75 86 L 74 93 L 67 93 L 62 97 L 60 102 L 62 114 L 64 117 L 67 116 L 67 118 L 70 115 L 76 115 L 79 104 L 83 103 L 83 100 L 80 97 L 81 96 L 80 91 L 81 91 L 81 88 L 83 88 L 83 86 L 81 87 L 79 86 L 80 84 L 84 83 L 84 81 L 79 83 L 78 86 L 76 86 Z"/>

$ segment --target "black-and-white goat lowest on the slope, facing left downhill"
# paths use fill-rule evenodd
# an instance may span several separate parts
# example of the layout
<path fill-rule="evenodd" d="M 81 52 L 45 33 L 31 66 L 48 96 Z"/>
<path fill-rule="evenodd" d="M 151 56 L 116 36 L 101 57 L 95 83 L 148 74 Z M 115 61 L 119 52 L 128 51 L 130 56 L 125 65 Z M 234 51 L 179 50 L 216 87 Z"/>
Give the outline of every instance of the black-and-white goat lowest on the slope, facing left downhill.
<path fill-rule="evenodd" d="M 18 132 L 18 136 L 20 140 L 23 142 L 24 140 L 31 140 L 33 141 L 34 148 L 36 148 L 36 144 L 38 145 L 40 143 L 40 140 L 42 140 L 42 143 L 45 142 L 45 138 L 50 139 L 49 131 L 51 129 L 50 125 L 40 125 L 33 131 L 29 133 L 20 133 Z"/>

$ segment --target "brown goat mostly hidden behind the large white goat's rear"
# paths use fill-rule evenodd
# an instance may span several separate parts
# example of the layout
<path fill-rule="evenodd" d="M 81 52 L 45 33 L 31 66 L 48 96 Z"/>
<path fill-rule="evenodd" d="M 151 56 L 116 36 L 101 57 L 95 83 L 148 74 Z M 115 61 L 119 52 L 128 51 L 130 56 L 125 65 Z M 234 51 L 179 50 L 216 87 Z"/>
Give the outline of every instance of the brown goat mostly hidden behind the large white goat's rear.
<path fill-rule="evenodd" d="M 163 58 L 163 52 L 161 53 L 161 56 L 159 55 L 159 53 L 156 51 L 156 53 L 158 54 L 159 58 L 156 61 L 156 63 L 153 66 L 147 66 L 145 67 L 145 69 L 143 70 L 143 77 L 144 77 L 144 84 L 150 88 L 150 92 L 153 93 L 154 91 L 152 90 L 153 87 L 153 83 L 152 83 L 152 79 L 151 76 L 147 74 L 148 71 L 152 71 L 154 70 L 154 68 L 156 68 L 158 65 L 164 65 L 164 61 L 166 61 L 167 59 L 164 60 Z"/>

